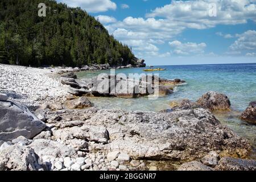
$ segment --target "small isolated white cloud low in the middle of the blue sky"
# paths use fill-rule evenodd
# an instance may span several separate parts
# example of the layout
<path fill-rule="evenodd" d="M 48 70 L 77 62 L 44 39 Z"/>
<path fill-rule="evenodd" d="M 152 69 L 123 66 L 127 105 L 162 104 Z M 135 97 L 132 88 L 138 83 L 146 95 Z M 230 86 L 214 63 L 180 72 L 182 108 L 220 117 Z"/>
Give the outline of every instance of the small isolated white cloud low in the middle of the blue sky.
<path fill-rule="evenodd" d="M 178 40 L 169 42 L 169 45 L 173 48 L 173 52 L 176 55 L 196 55 L 204 53 L 204 49 L 207 47 L 205 43 L 181 43 Z"/>

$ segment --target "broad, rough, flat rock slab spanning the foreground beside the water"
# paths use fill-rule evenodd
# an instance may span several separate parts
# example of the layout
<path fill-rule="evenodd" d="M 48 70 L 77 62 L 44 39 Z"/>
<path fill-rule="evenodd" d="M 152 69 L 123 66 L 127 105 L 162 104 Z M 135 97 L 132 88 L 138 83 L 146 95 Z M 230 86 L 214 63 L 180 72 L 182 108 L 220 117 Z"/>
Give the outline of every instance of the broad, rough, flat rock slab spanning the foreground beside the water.
<path fill-rule="evenodd" d="M 47 117 L 51 118 L 56 113 L 51 114 Z M 90 151 L 122 151 L 133 159 L 187 162 L 199 160 L 209 151 L 217 151 L 220 156 L 245 158 L 251 150 L 245 138 L 239 137 L 222 125 L 210 111 L 201 107 L 177 108 L 170 113 L 90 108 L 65 110 L 59 116 L 64 121 L 68 118 L 73 121 L 56 121 L 56 127 L 66 127 L 61 134 L 63 137 L 57 137 L 59 130 L 53 131 L 56 138 L 91 140 L 95 143 L 90 143 Z M 108 129 L 110 139 L 106 130 L 97 129 L 98 126 Z M 71 131 L 71 135 L 66 138 L 68 131 Z"/>

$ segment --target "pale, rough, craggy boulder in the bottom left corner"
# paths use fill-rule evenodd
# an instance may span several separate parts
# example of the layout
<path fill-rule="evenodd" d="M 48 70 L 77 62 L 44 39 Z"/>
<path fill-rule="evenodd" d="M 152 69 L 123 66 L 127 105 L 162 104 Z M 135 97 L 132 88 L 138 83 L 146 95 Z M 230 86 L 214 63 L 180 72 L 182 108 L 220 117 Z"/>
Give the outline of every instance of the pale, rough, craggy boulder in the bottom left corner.
<path fill-rule="evenodd" d="M 36 171 L 42 168 L 32 148 L 15 144 L 0 152 L 0 171 Z"/>

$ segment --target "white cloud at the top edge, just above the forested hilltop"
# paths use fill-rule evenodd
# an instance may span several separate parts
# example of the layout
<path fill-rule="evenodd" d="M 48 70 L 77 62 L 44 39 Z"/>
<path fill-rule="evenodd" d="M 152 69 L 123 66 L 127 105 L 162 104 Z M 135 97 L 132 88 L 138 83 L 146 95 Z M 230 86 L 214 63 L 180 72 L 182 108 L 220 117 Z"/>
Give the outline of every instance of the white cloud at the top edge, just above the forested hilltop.
<path fill-rule="evenodd" d="M 117 5 L 111 0 L 59 0 L 70 7 L 81 7 L 89 13 L 99 13 L 117 9 Z"/>

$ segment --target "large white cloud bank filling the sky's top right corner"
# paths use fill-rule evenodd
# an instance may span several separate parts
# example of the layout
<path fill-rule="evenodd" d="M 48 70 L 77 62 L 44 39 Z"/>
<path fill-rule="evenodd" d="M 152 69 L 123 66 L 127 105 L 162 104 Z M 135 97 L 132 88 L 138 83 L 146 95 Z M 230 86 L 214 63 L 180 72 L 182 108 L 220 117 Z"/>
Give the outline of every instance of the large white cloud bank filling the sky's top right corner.
<path fill-rule="evenodd" d="M 209 16 L 210 3 L 217 7 L 217 16 Z M 188 28 L 204 29 L 217 24 L 246 23 L 256 20 L 254 0 L 197 0 L 172 1 L 170 5 L 158 7 L 147 14 L 148 18 L 162 17 L 172 22 L 186 23 Z"/>

